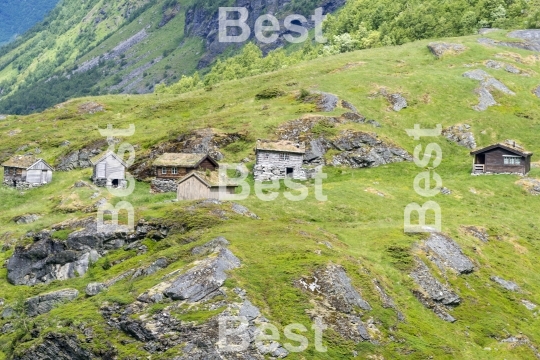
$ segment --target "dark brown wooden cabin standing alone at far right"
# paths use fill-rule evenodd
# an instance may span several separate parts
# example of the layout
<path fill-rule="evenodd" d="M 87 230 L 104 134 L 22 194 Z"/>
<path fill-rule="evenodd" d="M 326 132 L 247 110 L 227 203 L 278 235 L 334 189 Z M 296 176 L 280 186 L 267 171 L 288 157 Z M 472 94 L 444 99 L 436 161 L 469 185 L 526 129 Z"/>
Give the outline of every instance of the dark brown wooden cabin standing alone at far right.
<path fill-rule="evenodd" d="M 531 170 L 532 153 L 513 141 L 490 145 L 471 152 L 473 175 L 522 174 Z"/>

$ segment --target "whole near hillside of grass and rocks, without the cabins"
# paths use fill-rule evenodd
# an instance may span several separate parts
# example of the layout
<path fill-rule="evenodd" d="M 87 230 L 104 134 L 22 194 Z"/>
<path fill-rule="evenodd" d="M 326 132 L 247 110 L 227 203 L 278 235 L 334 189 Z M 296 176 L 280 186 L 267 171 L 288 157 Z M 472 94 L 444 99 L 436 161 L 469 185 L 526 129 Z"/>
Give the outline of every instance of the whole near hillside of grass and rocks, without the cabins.
<path fill-rule="evenodd" d="M 57 171 L 0 187 L 0 359 L 540 358 L 538 34 L 483 30 L 1 116 L 0 162 Z M 247 50 L 229 71 L 261 58 Z M 90 179 L 109 124 L 134 125 L 109 139 L 135 152 L 129 194 Z M 257 194 L 257 139 L 303 142 L 322 189 Z M 530 173 L 471 176 L 471 150 L 496 143 L 532 152 Z M 167 152 L 243 164 L 250 195 L 154 193 Z M 405 209 L 428 201 L 440 231 L 405 232 Z M 125 212 L 98 227 L 106 203 L 131 204 L 134 229 Z M 247 347 L 229 352 L 219 324 L 237 315 Z M 264 327 L 273 340 L 258 342 Z"/>

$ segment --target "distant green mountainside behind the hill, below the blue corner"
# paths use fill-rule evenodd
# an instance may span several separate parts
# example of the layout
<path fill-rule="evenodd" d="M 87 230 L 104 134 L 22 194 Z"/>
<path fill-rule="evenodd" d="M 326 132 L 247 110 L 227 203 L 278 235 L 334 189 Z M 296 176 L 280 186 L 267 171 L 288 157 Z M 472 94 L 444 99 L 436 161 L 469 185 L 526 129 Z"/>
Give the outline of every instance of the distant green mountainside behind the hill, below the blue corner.
<path fill-rule="evenodd" d="M 274 13 L 309 15 L 343 0 L 252 1 L 249 23 Z M 68 98 L 148 93 L 204 69 L 236 46 L 217 39 L 218 7 L 230 1 L 64 0 L 42 22 L 0 48 L 0 113 L 43 110 Z M 275 44 L 274 47 L 283 44 Z M 268 49 L 269 50 L 269 49 Z"/>

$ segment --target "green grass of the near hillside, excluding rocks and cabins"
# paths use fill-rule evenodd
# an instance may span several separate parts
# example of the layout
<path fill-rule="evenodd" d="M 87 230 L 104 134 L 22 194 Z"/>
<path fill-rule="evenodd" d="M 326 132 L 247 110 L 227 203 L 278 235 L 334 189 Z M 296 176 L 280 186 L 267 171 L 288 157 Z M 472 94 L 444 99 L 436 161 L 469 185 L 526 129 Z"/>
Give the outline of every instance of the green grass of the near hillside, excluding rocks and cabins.
<path fill-rule="evenodd" d="M 135 31 L 135 30 L 133 30 Z M 502 33 L 491 36 L 501 38 Z M 136 133 L 125 141 L 136 145 L 138 156 L 156 144 L 176 138 L 179 134 L 211 127 L 219 132 L 243 132 L 249 141 L 234 143 L 223 149 L 226 162 L 238 162 L 246 156 L 253 159 L 255 139 L 272 138 L 277 126 L 307 114 L 316 114 L 315 106 L 297 100 L 302 89 L 325 91 L 351 102 L 368 119 L 382 127 L 349 123 L 340 128 L 377 132 L 385 140 L 405 148 L 410 153 L 419 143 L 407 136 L 405 129 L 415 124 L 444 128 L 466 123 L 479 146 L 496 141 L 515 139 L 528 150 L 540 153 L 537 134 L 540 130 L 539 99 L 531 92 L 540 84 L 540 62 L 531 52 L 487 47 L 477 43 L 477 36 L 446 39 L 462 43 L 467 50 L 459 55 L 435 59 L 428 51 L 428 41 L 399 47 L 377 48 L 350 52 L 304 62 L 269 74 L 214 85 L 182 95 L 117 95 L 82 98 L 29 116 L 9 116 L 0 121 L 0 160 L 15 153 L 39 148 L 50 163 L 69 151 L 79 149 L 101 137 L 99 128 L 113 124 L 127 128 L 135 124 Z M 516 75 L 484 66 L 490 59 L 504 61 L 529 76 Z M 500 106 L 485 112 L 472 109 L 478 102 L 474 89 L 478 83 L 462 74 L 471 69 L 483 69 L 506 84 L 515 96 L 495 93 Z M 286 95 L 269 100 L 256 100 L 256 95 L 268 88 L 279 88 Z M 373 96 L 380 87 L 402 93 L 409 107 L 401 112 L 389 110 L 382 97 Z M 97 102 L 104 112 L 81 113 L 81 105 Z M 323 115 L 340 115 L 343 111 Z M 68 140 L 70 145 L 61 144 Z M 370 169 L 325 167 L 328 179 L 324 193 L 328 201 L 319 202 L 313 195 L 302 202 L 287 201 L 283 195 L 264 202 L 253 194 L 242 205 L 249 207 L 261 220 L 233 216 L 226 221 L 208 222 L 204 210 L 191 219 L 198 226 L 188 234 L 177 234 L 162 242 L 145 240 L 148 252 L 118 250 L 102 258 L 89 272 L 76 279 L 54 282 L 48 286 L 12 286 L 6 281 L 7 270 L 0 269 L 0 294 L 6 304 L 20 304 L 22 299 L 39 293 L 75 288 L 84 293 L 91 281 L 103 281 L 127 269 L 149 264 L 158 257 L 174 258 L 161 272 L 134 281 L 122 281 L 107 292 L 93 298 L 79 296 L 74 302 L 54 309 L 35 319 L 14 321 L 16 331 L 0 335 L 0 359 L 9 358 L 12 349 L 21 352 L 35 345 L 50 331 L 75 332 L 84 324 L 94 329 L 93 340 L 85 347 L 98 349 L 112 344 L 118 358 L 149 356 L 142 343 L 133 341 L 122 331 L 108 327 L 98 313 L 105 302 L 129 304 L 151 286 L 160 282 L 166 273 L 185 269 L 195 258 L 190 255 L 193 245 L 203 244 L 224 236 L 231 250 L 242 260 L 242 267 L 231 272 L 229 289 L 247 290 L 252 302 L 280 329 L 289 323 L 311 323 L 307 314 L 313 304 L 310 297 L 293 286 L 301 276 L 329 262 L 347 269 L 354 286 L 369 301 L 373 310 L 362 320 L 373 318 L 380 330 L 379 344 L 345 341 L 329 332 L 325 337 L 328 353 L 317 353 L 310 346 L 305 353 L 291 354 L 290 359 L 346 359 L 352 352 L 359 358 L 371 359 L 531 359 L 528 345 L 503 343 L 510 335 L 523 334 L 532 344 L 540 344 L 537 313 L 521 304 L 522 299 L 540 303 L 540 275 L 537 262 L 540 256 L 538 198 L 518 186 L 518 176 L 472 177 L 469 150 L 444 137 L 424 139 L 421 143 L 436 142 L 443 150 L 443 162 L 437 168 L 450 195 L 437 195 L 432 200 L 443 211 L 443 232 L 453 237 L 464 253 L 477 265 L 469 275 L 441 273 L 431 270 L 441 281 L 450 285 L 463 299 L 452 315 L 455 323 L 440 320 L 424 308 L 413 296 L 416 288 L 409 277 L 412 259 L 423 257 L 418 243 L 424 235 L 403 232 L 403 211 L 411 202 L 424 203 L 413 189 L 415 176 L 424 169 L 414 163 L 384 165 Z M 17 150 L 27 145 L 26 150 Z M 533 157 L 538 161 L 538 156 Z M 249 167 L 253 163 L 248 164 Z M 89 170 L 56 172 L 48 186 L 19 193 L 1 188 L 0 224 L 5 243 L 21 239 L 28 231 L 39 231 L 63 220 L 86 217 L 80 209 L 92 205 L 87 189 L 72 188 L 78 180 L 88 180 Z M 531 177 L 540 177 L 534 168 Z M 0 178 L 1 180 L 1 178 Z M 102 196 L 109 197 L 105 190 Z M 383 194 L 384 196 L 381 196 Z M 190 203 L 171 203 L 174 195 L 151 195 L 149 184 L 137 183 L 135 192 L 125 199 L 136 207 L 137 218 L 166 218 L 173 222 L 186 221 Z M 41 214 L 29 225 L 16 225 L 12 219 L 22 214 Z M 203 225 L 200 225 L 203 224 Z M 483 243 L 465 233 L 462 226 L 487 229 L 490 241 Z M 187 243 L 189 238 L 196 243 Z M 324 245 L 331 244 L 331 248 Z M 0 262 L 13 254 L 13 247 L 0 252 Z M 106 261 L 125 261 L 104 270 Z M 498 287 L 490 277 L 498 275 L 512 280 L 523 289 L 512 293 Z M 405 315 L 405 322 L 396 319 L 392 309 L 384 308 L 373 287 L 378 279 Z M 196 314 L 199 319 L 210 316 Z M 184 321 L 193 318 L 178 315 Z M 184 316 L 182 318 L 182 316 Z M 0 327 L 10 320 L 0 320 Z M 28 329 L 36 327 L 39 335 L 32 337 Z M 309 327 L 309 326 L 308 326 Z M 25 330 L 26 329 L 26 330 Z M 309 332 L 312 338 L 313 333 Z M 180 349 L 154 355 L 171 358 Z"/>

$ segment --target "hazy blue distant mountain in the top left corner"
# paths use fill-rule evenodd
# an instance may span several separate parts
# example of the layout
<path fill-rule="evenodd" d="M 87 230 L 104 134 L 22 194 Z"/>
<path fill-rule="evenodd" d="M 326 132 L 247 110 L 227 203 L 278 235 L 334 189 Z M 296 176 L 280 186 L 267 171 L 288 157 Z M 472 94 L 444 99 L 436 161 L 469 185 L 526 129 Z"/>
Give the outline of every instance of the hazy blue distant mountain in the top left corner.
<path fill-rule="evenodd" d="M 58 0 L 3 0 L 0 2 L 0 45 L 14 40 L 43 20 Z"/>

